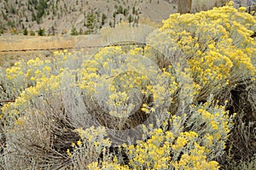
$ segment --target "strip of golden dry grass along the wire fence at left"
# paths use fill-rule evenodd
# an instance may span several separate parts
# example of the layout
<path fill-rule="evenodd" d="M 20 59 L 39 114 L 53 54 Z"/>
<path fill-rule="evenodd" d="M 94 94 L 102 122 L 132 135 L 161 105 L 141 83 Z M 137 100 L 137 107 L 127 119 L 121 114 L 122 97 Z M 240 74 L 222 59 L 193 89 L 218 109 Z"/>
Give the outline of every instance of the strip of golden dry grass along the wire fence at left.
<path fill-rule="evenodd" d="M 26 49 L 44 49 L 40 51 L 10 51 L 0 52 L 0 66 L 6 68 L 20 59 L 44 58 L 49 56 L 55 50 L 49 48 L 81 48 L 88 46 L 103 45 L 102 39 L 98 35 L 89 36 L 8 36 L 0 37 L 0 51 L 5 50 L 26 50 Z M 97 48 L 84 48 L 88 53 L 94 53 Z"/>

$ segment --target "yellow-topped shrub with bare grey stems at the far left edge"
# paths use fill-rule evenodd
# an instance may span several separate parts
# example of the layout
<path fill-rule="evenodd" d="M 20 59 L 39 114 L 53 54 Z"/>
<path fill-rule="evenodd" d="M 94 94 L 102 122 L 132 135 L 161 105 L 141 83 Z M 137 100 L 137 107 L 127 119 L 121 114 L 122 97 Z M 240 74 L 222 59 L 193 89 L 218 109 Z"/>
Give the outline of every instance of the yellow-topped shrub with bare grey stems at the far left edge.
<path fill-rule="evenodd" d="M 27 169 L 30 168 L 29 161 L 39 165 L 46 159 L 51 161 L 44 166 L 59 167 L 70 155 L 68 147 L 65 144 L 63 146 L 61 141 L 67 136 L 70 138 L 65 139 L 68 144 L 79 140 L 79 135 L 67 126 L 69 121 L 62 102 L 64 98 L 61 93 L 66 90 L 63 87 L 63 77 L 69 69 L 62 58 L 64 53 L 67 52 L 59 52 L 55 61 L 31 59 L 27 62 L 20 61 L 7 69 L 6 81 L 10 81 L 12 85 L 8 88 L 13 88 L 12 93 L 16 94 L 15 102 L 7 103 L 1 108 L 4 135 L 9 141 L 6 150 L 11 152 L 8 155 L 10 158 L 7 158 L 7 167 Z M 79 54 L 67 55 L 73 62 L 79 59 Z M 22 71 L 19 74 L 23 76 L 16 77 L 15 71 Z M 56 134 L 60 132 L 61 135 Z M 15 153 L 18 150 L 20 154 L 17 155 Z M 58 156 L 55 156 L 56 153 Z"/>

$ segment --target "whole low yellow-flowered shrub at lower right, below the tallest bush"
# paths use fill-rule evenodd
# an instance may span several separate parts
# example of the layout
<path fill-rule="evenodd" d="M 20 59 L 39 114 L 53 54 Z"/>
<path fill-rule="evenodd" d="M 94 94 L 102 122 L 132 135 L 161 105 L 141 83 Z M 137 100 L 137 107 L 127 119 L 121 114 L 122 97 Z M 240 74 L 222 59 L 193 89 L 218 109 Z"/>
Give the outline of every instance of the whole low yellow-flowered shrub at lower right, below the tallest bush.
<path fill-rule="evenodd" d="M 125 145 L 133 169 L 218 169 L 213 161 L 224 152 L 230 133 L 228 112 L 224 106 L 208 103 L 193 107 L 189 114 L 172 116 L 171 129 L 146 132 L 148 139 Z M 184 122 L 185 120 L 185 122 Z"/>

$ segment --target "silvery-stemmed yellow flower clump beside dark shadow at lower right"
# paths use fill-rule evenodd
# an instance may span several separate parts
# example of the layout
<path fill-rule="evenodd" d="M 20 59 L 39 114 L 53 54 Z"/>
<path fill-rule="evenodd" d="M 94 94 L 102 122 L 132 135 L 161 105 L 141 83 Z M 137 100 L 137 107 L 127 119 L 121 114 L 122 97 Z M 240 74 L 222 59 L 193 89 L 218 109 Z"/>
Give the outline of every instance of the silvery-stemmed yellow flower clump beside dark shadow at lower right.
<path fill-rule="evenodd" d="M 207 102 L 192 106 L 193 114 L 189 118 L 189 124 L 198 122 L 192 129 L 201 136 L 200 144 L 206 148 L 207 156 L 214 158 L 225 148 L 225 141 L 232 128 L 232 116 L 229 116 L 229 111 L 225 111 L 224 106 L 211 105 L 212 102 Z"/>

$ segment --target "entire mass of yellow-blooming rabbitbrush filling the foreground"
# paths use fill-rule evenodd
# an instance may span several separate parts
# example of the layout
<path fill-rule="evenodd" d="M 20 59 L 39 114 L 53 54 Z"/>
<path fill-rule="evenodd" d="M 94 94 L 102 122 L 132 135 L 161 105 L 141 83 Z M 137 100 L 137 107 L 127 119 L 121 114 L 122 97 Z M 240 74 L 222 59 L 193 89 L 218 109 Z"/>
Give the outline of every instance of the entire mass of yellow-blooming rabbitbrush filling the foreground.
<path fill-rule="evenodd" d="M 64 50 L 51 60 L 16 63 L 1 72 L 0 98 L 15 99 L 0 112 L 1 168 L 253 162 L 255 23 L 231 6 L 172 14 L 146 46 L 109 46 L 94 55 Z M 244 143 L 248 155 L 237 150 Z"/>

